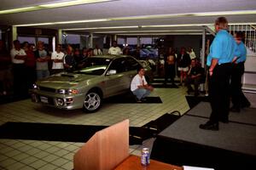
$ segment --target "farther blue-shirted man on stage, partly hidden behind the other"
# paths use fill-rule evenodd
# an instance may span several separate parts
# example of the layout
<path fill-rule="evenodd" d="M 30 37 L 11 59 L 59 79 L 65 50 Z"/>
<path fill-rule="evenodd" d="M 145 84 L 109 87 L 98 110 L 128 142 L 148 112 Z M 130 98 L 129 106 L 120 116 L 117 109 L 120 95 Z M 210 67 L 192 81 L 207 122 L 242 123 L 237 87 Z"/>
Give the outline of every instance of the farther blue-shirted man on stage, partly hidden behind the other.
<path fill-rule="evenodd" d="M 247 48 L 242 42 L 243 33 L 236 32 L 236 43 L 241 55 L 233 59 L 232 72 L 231 72 L 231 99 L 233 106 L 230 108 L 232 112 L 240 112 L 242 107 L 250 106 L 250 102 L 241 91 L 241 77 L 244 73 L 244 62 L 247 59 Z"/>

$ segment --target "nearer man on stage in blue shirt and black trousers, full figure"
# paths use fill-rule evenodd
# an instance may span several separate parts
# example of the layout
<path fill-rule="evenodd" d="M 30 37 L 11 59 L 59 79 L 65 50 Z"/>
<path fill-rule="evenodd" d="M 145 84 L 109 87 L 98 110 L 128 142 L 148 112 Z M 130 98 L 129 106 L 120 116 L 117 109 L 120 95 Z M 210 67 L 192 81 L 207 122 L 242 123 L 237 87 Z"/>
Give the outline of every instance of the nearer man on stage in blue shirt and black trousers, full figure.
<path fill-rule="evenodd" d="M 207 56 L 209 67 L 209 99 L 212 107 L 210 120 L 199 127 L 205 130 L 218 130 L 218 122 L 229 122 L 231 62 L 239 56 L 235 39 L 228 31 L 228 20 L 219 17 L 215 20 L 217 32 Z"/>

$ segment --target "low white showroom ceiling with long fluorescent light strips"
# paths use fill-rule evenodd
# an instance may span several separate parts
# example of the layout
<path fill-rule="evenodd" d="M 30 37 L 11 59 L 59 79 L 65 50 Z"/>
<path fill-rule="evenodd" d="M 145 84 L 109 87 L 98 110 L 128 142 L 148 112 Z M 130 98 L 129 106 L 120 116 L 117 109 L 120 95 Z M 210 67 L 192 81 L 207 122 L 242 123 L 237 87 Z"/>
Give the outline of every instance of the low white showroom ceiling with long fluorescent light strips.
<path fill-rule="evenodd" d="M 67 1 L 2 0 L 0 25 L 156 35 L 200 33 L 201 26 L 212 25 L 218 16 L 227 17 L 232 24 L 256 23 L 255 0 L 110 0 L 101 3 L 79 0 L 75 2 L 83 4 L 59 8 L 49 4 L 60 2 Z M 27 12 L 6 11 L 14 8 Z"/>

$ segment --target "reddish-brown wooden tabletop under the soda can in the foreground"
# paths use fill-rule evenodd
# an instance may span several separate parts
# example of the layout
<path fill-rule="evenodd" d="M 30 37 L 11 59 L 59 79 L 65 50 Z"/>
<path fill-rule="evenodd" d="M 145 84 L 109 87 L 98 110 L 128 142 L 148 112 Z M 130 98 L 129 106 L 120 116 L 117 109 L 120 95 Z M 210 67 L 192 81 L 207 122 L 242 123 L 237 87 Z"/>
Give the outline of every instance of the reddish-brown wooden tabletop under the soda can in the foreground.
<path fill-rule="evenodd" d="M 129 156 L 115 170 L 183 170 L 183 167 L 173 166 L 160 161 L 150 160 L 148 166 L 141 164 L 140 156 Z"/>

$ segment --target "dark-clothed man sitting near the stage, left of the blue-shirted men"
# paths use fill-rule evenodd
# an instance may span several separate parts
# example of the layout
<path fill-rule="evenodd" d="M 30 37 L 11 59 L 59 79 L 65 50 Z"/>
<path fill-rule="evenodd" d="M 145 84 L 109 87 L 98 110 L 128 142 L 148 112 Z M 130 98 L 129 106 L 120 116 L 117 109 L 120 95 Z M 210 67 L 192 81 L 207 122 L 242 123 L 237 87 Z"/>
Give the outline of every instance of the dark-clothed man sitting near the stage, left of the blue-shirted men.
<path fill-rule="evenodd" d="M 194 91 L 191 87 L 191 84 L 194 84 L 195 96 L 197 96 L 199 94 L 198 87 L 202 82 L 204 82 L 204 69 L 201 67 L 201 65 L 197 64 L 196 59 L 192 59 L 188 77 L 185 79 L 188 94 Z"/>

